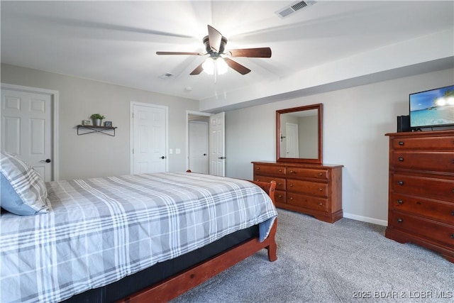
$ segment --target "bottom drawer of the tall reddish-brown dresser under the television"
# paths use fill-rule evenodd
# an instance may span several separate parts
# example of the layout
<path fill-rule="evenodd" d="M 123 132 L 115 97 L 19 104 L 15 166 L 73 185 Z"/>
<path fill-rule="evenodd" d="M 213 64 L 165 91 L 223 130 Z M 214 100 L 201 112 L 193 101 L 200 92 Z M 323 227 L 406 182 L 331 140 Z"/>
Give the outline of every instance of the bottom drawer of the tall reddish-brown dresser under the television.
<path fill-rule="evenodd" d="M 411 216 L 399 211 L 395 211 L 390 219 L 388 226 L 445 243 L 454 248 L 454 225 Z"/>

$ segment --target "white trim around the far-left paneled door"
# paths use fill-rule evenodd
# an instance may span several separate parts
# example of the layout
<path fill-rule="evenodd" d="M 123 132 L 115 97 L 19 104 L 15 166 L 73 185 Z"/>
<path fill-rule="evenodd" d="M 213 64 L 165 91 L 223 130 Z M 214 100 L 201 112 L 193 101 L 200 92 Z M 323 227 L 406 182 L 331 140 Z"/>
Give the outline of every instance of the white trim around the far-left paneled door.
<path fill-rule="evenodd" d="M 38 94 L 48 94 L 52 102 L 52 181 L 59 180 L 59 148 L 58 148 L 58 91 L 52 89 L 41 89 L 38 87 L 26 87 L 23 85 L 1 83 L 1 89 L 11 89 L 20 92 L 30 92 Z"/>

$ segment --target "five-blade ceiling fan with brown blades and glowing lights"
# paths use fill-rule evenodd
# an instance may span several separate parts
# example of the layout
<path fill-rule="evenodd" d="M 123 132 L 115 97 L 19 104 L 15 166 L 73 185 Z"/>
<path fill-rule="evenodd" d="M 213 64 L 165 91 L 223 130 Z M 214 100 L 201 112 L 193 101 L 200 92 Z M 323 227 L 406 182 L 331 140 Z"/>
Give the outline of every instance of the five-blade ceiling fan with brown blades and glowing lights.
<path fill-rule="evenodd" d="M 208 73 L 222 73 L 222 69 L 225 68 L 224 71 L 226 71 L 227 66 L 236 70 L 241 75 L 246 75 L 250 72 L 248 67 L 240 65 L 240 63 L 231 60 L 230 57 L 271 57 L 271 48 L 240 48 L 226 51 L 226 37 L 223 37 L 223 35 L 216 31 L 216 28 L 212 26 L 208 26 L 208 35 L 204 37 L 203 43 L 205 45 L 206 53 L 156 52 L 156 55 L 209 55 L 207 60 L 196 67 L 190 75 L 199 75 L 203 70 Z M 225 67 L 223 67 L 223 65 Z"/>

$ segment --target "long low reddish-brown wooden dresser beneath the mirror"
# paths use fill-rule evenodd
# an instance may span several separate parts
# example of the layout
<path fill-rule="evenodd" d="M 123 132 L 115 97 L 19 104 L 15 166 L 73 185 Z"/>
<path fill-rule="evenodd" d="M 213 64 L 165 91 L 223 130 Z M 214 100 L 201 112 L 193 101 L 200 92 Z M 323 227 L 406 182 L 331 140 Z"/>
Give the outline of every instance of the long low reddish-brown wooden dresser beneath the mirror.
<path fill-rule="evenodd" d="M 343 165 L 299 162 L 253 162 L 253 165 L 255 181 L 276 181 L 277 207 L 330 223 L 342 218 Z"/>

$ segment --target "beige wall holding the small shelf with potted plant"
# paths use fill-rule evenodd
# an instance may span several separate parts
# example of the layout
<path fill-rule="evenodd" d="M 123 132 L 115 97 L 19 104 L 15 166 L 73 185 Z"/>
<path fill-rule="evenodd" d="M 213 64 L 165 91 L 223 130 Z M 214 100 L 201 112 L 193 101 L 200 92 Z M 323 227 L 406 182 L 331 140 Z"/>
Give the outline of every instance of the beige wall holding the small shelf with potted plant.
<path fill-rule="evenodd" d="M 169 148 L 182 151 L 169 155 L 169 170 L 186 169 L 186 111 L 198 110 L 197 101 L 4 64 L 1 82 L 59 92 L 60 180 L 131 172 L 131 101 L 169 107 Z M 74 126 L 94 113 L 103 114 L 118 127 L 115 137 L 99 133 L 77 136 Z"/>

